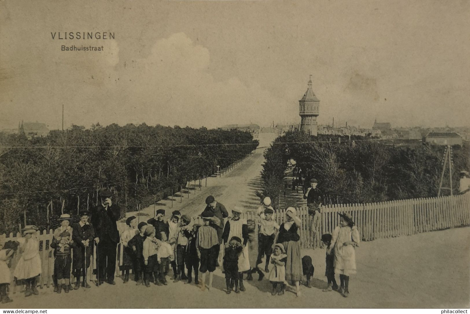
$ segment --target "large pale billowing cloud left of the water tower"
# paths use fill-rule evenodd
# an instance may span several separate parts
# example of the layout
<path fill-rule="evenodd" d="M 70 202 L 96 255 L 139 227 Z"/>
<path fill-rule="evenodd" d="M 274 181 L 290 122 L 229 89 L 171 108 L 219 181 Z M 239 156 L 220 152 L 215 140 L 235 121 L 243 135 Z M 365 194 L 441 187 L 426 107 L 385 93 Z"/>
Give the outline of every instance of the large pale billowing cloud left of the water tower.
<path fill-rule="evenodd" d="M 184 33 L 157 40 L 150 54 L 120 62 L 119 80 L 110 81 L 120 102 L 113 109 L 120 123 L 207 126 L 269 124 L 282 116 L 285 100 L 257 83 L 231 76 L 214 79 L 209 50 Z M 138 121 L 140 120 L 140 121 Z M 111 122 L 111 121 L 110 121 Z"/>

